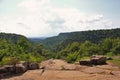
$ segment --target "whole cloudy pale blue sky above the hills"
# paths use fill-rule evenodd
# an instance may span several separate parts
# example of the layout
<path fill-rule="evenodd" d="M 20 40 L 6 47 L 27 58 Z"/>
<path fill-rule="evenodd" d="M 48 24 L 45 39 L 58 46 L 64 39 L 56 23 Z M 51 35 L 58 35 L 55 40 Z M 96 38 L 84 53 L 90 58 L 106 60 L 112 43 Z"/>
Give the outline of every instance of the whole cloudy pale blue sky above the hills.
<path fill-rule="evenodd" d="M 120 28 L 120 0 L 0 0 L 0 32 L 50 37 Z"/>

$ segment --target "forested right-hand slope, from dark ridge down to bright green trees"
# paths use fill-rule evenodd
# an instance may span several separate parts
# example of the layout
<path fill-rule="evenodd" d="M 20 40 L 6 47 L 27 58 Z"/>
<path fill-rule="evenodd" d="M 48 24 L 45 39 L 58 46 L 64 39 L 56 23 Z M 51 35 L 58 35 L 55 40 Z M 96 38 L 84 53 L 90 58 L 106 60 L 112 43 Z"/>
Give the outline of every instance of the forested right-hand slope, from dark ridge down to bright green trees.
<path fill-rule="evenodd" d="M 60 33 L 41 43 L 52 57 L 68 62 L 96 54 L 114 56 L 120 54 L 120 28 Z"/>

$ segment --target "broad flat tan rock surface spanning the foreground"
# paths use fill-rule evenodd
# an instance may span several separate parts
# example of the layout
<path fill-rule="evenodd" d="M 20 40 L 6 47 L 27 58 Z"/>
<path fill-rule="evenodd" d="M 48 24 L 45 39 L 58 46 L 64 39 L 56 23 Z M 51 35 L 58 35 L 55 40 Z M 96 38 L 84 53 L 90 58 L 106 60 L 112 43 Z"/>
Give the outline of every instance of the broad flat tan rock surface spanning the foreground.
<path fill-rule="evenodd" d="M 120 80 L 119 67 L 110 64 L 91 67 L 68 64 L 64 60 L 55 59 L 50 60 L 50 62 L 49 60 L 43 61 L 42 65 L 41 69 L 28 70 L 22 75 L 0 80 Z M 69 70 L 60 70 L 61 65 L 64 65 L 66 69 L 69 68 Z M 49 69 L 45 69 L 45 66 Z M 75 66 L 75 70 L 70 69 L 74 68 L 73 66 Z M 45 69 L 44 72 L 43 69 Z"/>

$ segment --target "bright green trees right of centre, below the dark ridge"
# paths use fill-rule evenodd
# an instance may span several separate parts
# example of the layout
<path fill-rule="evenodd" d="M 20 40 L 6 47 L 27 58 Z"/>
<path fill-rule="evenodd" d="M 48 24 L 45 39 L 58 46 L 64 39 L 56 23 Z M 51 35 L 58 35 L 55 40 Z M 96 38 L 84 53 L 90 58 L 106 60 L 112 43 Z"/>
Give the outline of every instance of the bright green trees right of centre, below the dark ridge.
<path fill-rule="evenodd" d="M 92 55 L 106 55 L 108 57 L 120 55 L 120 38 L 106 38 L 98 44 L 91 43 L 90 41 L 83 43 L 73 42 L 61 50 L 57 54 L 57 58 L 73 63 L 83 59 L 83 57 L 90 57 Z"/>

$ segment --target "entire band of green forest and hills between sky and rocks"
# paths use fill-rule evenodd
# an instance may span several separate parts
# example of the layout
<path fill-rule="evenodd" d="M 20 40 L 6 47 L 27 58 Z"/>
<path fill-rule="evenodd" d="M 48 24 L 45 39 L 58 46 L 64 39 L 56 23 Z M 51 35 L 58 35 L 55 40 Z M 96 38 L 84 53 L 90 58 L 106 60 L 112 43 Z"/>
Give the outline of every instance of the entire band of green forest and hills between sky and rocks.
<path fill-rule="evenodd" d="M 60 33 L 46 39 L 0 33 L 0 65 L 20 61 L 40 62 L 49 58 L 70 63 L 92 55 L 120 55 L 120 29 Z"/>

